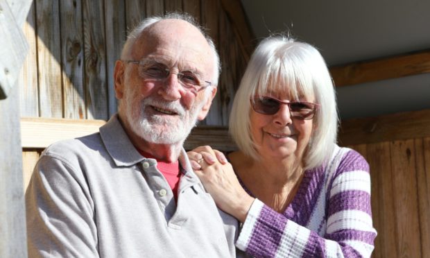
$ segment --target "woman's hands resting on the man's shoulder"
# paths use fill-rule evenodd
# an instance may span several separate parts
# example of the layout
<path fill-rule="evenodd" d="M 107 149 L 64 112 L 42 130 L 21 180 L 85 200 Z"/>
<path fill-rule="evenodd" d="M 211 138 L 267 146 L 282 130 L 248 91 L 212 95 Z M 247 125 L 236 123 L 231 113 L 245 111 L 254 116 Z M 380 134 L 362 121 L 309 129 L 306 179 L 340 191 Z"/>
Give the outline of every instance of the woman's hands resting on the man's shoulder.
<path fill-rule="evenodd" d="M 239 221 L 245 221 L 254 198 L 242 188 L 223 153 L 209 146 L 201 146 L 187 154 L 194 172 L 216 205 Z"/>

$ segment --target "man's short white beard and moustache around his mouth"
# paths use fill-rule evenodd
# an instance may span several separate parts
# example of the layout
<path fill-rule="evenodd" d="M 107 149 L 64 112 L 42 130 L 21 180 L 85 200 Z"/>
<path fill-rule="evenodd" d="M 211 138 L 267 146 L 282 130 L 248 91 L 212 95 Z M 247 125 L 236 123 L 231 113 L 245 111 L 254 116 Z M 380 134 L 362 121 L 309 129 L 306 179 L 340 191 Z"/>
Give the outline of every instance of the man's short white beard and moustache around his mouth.
<path fill-rule="evenodd" d="M 179 101 L 164 101 L 148 96 L 141 100 L 139 105 L 136 105 L 132 98 L 133 96 L 126 96 L 125 99 L 127 101 L 126 117 L 131 130 L 139 137 L 155 144 L 182 144 L 191 129 L 196 126 L 198 113 L 205 105 L 205 101 L 201 101 L 187 111 Z M 177 123 L 171 123 L 171 119 L 166 119 L 162 115 L 148 114 L 145 109 L 152 108 L 150 105 L 173 110 L 179 118 L 176 119 Z"/>

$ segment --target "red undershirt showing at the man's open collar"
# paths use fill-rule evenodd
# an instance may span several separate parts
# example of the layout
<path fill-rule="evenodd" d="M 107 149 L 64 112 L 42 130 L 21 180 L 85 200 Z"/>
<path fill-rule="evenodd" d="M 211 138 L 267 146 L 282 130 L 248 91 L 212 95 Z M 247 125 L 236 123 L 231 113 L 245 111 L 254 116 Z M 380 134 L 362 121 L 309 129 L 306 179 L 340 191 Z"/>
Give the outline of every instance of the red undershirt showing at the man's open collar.
<path fill-rule="evenodd" d="M 173 196 L 175 197 L 175 201 L 178 201 L 178 187 L 179 187 L 179 179 L 180 179 L 180 167 L 179 167 L 178 160 L 175 162 L 168 163 L 168 162 L 158 160 L 153 155 L 150 155 L 149 153 L 146 153 L 143 150 L 138 149 L 138 151 L 142 156 L 146 158 L 157 160 L 157 169 L 164 175 L 164 178 L 166 178 L 170 188 L 173 191 Z"/>

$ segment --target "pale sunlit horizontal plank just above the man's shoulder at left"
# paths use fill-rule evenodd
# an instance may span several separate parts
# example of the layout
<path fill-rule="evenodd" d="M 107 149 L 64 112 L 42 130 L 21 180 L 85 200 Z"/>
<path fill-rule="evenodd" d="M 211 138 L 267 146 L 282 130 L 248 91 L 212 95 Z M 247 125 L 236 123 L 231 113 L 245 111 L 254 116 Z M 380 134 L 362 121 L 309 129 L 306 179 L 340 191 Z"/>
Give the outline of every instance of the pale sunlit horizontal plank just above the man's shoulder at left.
<path fill-rule="evenodd" d="M 21 118 L 23 148 L 46 148 L 55 141 L 98 132 L 103 120 Z"/>

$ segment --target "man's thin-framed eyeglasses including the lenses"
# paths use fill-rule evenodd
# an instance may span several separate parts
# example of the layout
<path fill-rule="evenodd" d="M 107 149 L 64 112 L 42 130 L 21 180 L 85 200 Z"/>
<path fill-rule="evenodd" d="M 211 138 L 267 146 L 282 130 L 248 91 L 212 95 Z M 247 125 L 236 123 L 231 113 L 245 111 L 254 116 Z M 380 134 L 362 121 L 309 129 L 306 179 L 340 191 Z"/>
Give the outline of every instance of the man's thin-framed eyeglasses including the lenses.
<path fill-rule="evenodd" d="M 131 62 L 132 64 L 139 65 L 139 76 L 144 80 L 164 81 L 173 73 L 171 68 L 153 60 L 125 60 L 124 62 Z M 178 71 L 176 75 L 178 76 L 180 85 L 195 92 L 212 85 L 211 82 L 202 80 L 192 71 Z"/>

